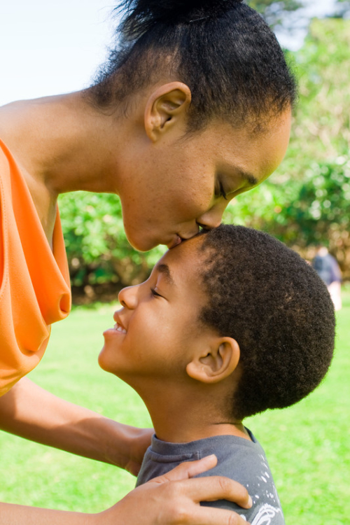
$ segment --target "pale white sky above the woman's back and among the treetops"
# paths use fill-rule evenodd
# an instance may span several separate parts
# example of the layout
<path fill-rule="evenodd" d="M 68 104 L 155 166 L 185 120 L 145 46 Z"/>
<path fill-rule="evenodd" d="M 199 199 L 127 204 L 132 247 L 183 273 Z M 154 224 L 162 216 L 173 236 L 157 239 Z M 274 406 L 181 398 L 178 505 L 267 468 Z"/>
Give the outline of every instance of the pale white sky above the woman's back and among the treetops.
<path fill-rule="evenodd" d="M 307 0 L 312 15 L 334 0 Z M 0 0 L 0 105 L 80 90 L 104 62 L 113 0 Z M 297 48 L 304 31 L 281 43 Z"/>

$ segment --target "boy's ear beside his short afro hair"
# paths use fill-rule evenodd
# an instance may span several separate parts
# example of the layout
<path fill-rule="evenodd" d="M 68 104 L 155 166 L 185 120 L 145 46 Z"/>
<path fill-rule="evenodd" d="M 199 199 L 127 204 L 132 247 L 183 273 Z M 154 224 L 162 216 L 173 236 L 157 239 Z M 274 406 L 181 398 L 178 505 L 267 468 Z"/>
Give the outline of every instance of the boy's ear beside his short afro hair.
<path fill-rule="evenodd" d="M 186 372 L 202 383 L 218 383 L 235 371 L 239 363 L 239 344 L 232 337 L 216 339 L 207 353 L 196 355 Z"/>

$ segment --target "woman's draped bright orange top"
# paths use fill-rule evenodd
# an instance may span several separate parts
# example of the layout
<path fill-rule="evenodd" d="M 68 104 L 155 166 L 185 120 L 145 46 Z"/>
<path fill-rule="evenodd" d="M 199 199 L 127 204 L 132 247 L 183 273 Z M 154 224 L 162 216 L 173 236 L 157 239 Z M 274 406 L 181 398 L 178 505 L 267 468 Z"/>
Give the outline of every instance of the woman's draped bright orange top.
<path fill-rule="evenodd" d="M 71 288 L 61 222 L 52 250 L 15 160 L 0 141 L 0 395 L 43 357 Z"/>

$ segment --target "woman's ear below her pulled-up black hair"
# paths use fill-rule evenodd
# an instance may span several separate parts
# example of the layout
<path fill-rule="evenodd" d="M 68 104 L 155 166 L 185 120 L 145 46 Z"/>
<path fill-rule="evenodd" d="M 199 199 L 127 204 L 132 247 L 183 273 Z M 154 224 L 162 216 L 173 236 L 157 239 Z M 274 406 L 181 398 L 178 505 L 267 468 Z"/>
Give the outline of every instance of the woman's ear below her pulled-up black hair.
<path fill-rule="evenodd" d="M 182 82 L 164 84 L 148 97 L 144 113 L 146 134 L 158 141 L 174 125 L 183 123 L 191 102 L 188 85 Z"/>

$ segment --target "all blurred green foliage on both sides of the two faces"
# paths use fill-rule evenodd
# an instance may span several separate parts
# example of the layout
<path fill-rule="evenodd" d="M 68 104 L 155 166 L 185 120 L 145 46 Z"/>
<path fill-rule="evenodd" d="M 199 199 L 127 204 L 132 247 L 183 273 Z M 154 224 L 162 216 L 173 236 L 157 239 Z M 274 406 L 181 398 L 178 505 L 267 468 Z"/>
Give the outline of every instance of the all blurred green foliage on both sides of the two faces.
<path fill-rule="evenodd" d="M 288 59 L 300 100 L 286 159 L 232 201 L 224 221 L 265 230 L 305 257 L 311 244 L 325 244 L 350 278 L 350 21 L 313 20 Z M 131 248 L 116 195 L 79 192 L 59 201 L 73 285 L 137 283 L 164 253 Z"/>

